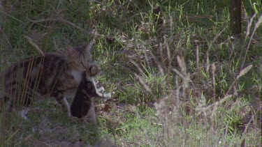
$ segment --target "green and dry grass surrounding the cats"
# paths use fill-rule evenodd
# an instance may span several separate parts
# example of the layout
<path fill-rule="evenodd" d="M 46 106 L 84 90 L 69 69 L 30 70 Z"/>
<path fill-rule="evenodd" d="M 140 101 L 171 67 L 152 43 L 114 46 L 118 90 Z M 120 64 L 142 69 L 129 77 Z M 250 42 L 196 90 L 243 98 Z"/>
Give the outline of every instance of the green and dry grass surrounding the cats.
<path fill-rule="evenodd" d="M 261 146 L 261 1 L 1 1 L 1 75 L 12 63 L 97 33 L 98 125 L 37 102 L 24 121 L 1 112 L 1 146 Z M 252 15 L 252 14 L 256 15 Z M 3 78 L 1 78 L 3 81 Z M 0 88 L 3 93 L 3 88 Z"/>

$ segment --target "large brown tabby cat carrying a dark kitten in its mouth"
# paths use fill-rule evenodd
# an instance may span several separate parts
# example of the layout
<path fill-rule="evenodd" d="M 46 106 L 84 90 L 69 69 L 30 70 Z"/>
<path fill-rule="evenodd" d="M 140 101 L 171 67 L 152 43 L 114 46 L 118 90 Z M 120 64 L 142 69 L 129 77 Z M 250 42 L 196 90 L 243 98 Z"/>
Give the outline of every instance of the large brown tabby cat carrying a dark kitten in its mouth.
<path fill-rule="evenodd" d="M 82 80 L 82 72 L 93 62 L 92 39 L 87 46 L 67 47 L 67 56 L 48 53 L 31 56 L 12 65 L 4 77 L 4 91 L 8 96 L 8 111 L 20 111 L 27 119 L 27 107 L 35 100 L 54 97 L 62 111 L 70 115 L 67 96 L 75 95 Z"/>

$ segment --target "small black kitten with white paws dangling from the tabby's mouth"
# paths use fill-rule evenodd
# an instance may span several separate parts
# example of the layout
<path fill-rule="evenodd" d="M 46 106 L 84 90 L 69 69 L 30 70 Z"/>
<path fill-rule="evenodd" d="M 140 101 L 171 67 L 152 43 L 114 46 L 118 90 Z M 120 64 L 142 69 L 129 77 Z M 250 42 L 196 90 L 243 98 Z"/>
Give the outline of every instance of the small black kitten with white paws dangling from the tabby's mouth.
<path fill-rule="evenodd" d="M 96 124 L 96 112 L 94 109 L 94 98 L 111 97 L 110 93 L 103 94 L 104 88 L 97 88 L 94 82 L 94 76 L 99 72 L 97 65 L 90 66 L 88 72 L 83 72 L 82 81 L 78 85 L 75 98 L 71 105 L 71 115 L 73 117 L 87 118 Z"/>

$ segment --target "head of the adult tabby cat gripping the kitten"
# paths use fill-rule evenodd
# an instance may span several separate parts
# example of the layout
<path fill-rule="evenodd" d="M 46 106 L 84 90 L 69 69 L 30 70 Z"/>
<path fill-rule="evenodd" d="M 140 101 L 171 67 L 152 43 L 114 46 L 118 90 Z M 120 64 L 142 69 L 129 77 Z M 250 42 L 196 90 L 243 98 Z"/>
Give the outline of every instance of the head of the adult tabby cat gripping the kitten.
<path fill-rule="evenodd" d="M 91 49 L 94 44 L 92 39 L 88 45 L 77 47 L 67 46 L 68 65 L 72 70 L 86 71 L 89 70 L 91 63 L 93 63 Z"/>

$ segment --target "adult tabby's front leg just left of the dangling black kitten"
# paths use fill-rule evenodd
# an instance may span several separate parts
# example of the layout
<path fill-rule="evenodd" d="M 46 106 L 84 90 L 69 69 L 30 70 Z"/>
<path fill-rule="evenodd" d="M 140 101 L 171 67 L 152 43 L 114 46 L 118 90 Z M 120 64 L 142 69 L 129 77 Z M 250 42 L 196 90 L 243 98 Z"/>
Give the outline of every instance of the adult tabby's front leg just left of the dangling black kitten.
<path fill-rule="evenodd" d="M 55 100 L 57 100 L 57 103 L 60 105 L 62 111 L 64 113 L 68 113 L 68 116 L 71 116 L 70 106 L 69 106 L 66 98 L 64 98 L 64 92 L 63 91 L 56 91 L 56 92 L 53 92 L 51 96 L 54 97 Z"/>

